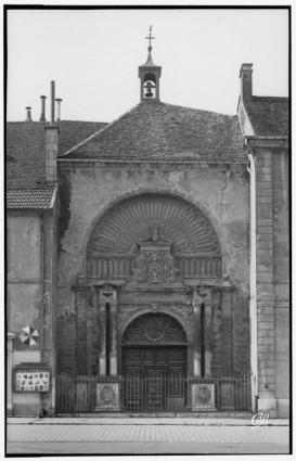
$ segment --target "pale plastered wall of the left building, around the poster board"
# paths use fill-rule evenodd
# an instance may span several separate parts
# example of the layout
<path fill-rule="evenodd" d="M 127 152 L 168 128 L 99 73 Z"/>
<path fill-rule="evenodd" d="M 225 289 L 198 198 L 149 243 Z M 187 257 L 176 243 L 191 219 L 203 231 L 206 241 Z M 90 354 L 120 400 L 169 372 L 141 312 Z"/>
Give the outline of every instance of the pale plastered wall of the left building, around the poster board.
<path fill-rule="evenodd" d="M 43 226 L 42 226 L 43 221 Z M 13 366 L 43 362 L 54 372 L 54 258 L 56 239 L 51 212 L 15 213 L 8 216 L 8 331 L 15 334 Z M 39 343 L 22 344 L 23 328 L 34 326 Z M 12 394 L 12 414 L 39 414 L 39 394 Z M 44 411 L 52 412 L 52 395 L 44 397 Z"/>

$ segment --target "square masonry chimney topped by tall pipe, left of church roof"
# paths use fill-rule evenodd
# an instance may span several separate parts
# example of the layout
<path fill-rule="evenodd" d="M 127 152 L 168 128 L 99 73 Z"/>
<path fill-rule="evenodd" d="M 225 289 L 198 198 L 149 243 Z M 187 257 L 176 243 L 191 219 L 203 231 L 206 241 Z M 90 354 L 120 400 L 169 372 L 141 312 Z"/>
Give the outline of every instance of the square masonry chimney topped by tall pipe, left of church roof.
<path fill-rule="evenodd" d="M 57 152 L 59 152 L 59 126 L 54 125 L 54 81 L 51 81 L 51 117 L 47 131 L 47 182 L 56 182 L 57 179 Z"/>

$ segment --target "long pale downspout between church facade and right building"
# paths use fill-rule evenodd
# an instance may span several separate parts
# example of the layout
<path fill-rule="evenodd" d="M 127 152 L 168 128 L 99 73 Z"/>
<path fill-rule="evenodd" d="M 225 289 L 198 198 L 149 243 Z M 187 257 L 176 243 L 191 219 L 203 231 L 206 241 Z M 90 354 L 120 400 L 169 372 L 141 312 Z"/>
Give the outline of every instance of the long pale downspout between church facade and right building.
<path fill-rule="evenodd" d="M 257 278 L 256 278 L 256 167 L 254 153 L 248 146 L 249 168 L 247 168 L 250 178 L 250 262 L 249 262 L 249 319 L 250 319 L 250 386 L 252 386 L 252 411 L 257 412 L 258 399 L 258 361 L 257 361 Z"/>

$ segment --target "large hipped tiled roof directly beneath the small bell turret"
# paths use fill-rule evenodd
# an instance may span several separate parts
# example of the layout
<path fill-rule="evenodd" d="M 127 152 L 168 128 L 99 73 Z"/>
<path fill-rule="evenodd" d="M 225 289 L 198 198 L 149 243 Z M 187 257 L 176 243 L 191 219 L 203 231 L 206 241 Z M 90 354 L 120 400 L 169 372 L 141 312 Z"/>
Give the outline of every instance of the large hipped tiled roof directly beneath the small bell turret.
<path fill-rule="evenodd" d="M 239 118 L 143 102 L 64 155 L 66 158 L 246 162 Z"/>

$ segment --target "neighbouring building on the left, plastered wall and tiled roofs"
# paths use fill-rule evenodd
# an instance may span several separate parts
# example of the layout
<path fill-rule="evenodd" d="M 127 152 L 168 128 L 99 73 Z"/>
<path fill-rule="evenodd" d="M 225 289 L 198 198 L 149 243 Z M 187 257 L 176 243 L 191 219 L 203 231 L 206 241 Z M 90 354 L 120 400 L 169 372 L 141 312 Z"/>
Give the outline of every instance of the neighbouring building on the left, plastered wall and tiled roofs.
<path fill-rule="evenodd" d="M 41 114 L 42 118 L 42 114 Z M 61 121 L 60 149 L 66 151 L 104 124 Z M 44 394 L 44 413 L 54 412 L 56 369 L 56 216 L 57 183 L 47 165 L 51 128 L 44 121 L 7 125 L 7 319 L 9 414 L 39 414 L 39 393 L 15 393 L 12 369 L 20 363 L 51 368 L 51 390 Z M 47 132 L 46 132 L 47 129 Z M 49 154 L 48 154 L 49 156 Z M 28 347 L 21 336 L 28 325 L 39 340 Z M 53 390 L 53 392 L 52 392 Z"/>

